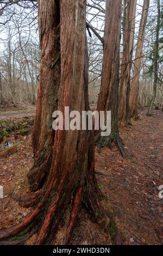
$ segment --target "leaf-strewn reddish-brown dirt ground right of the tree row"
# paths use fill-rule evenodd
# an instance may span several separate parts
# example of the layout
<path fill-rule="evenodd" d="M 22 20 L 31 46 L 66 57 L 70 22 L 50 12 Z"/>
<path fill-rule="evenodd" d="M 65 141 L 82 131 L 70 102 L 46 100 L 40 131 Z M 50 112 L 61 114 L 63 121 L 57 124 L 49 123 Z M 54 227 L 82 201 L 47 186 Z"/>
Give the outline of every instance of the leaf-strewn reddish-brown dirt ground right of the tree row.
<path fill-rule="evenodd" d="M 128 160 L 117 151 L 96 153 L 96 170 L 104 174 L 98 175 L 98 182 L 131 245 L 163 243 L 163 199 L 158 195 L 163 185 L 163 112 L 144 114 L 122 131 Z"/>

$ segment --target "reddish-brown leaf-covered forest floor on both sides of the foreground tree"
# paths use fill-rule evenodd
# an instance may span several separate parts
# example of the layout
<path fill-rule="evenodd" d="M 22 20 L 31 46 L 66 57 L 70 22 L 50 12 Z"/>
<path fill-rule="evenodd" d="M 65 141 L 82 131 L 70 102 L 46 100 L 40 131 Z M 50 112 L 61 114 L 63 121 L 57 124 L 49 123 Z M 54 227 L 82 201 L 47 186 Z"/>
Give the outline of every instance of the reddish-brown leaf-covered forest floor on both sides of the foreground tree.
<path fill-rule="evenodd" d="M 116 147 L 112 151 L 96 149 L 95 169 L 104 194 L 103 205 L 126 245 L 163 243 L 163 199 L 159 198 L 159 186 L 163 185 L 163 112 L 154 110 L 153 114 L 146 116 L 145 109 L 140 112 L 139 120 L 121 130 L 128 159 L 123 159 Z M 31 135 L 15 137 L 12 133 L 4 139 L 0 145 L 0 185 L 4 188 L 4 199 L 0 199 L 0 230 L 22 221 L 32 212 L 32 208 L 18 206 L 11 197 L 29 193 L 27 172 L 32 164 Z M 109 245 L 111 235 L 103 224 L 92 223 L 82 210 L 72 243 Z M 109 221 L 112 227 L 110 224 Z M 34 238 L 27 244 L 33 244 Z M 61 239 L 59 232 L 54 243 L 60 243 Z"/>

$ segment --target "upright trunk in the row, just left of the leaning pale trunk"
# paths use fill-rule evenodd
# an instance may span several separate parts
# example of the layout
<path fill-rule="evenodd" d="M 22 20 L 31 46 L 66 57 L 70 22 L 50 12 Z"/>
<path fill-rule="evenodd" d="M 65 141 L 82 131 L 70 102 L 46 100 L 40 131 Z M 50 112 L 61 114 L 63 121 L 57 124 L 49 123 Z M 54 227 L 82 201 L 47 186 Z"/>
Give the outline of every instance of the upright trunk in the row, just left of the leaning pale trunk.
<path fill-rule="evenodd" d="M 126 26 L 123 33 L 123 56 L 121 68 L 121 85 L 118 116 L 120 127 L 130 124 L 129 96 L 130 96 L 130 72 L 133 57 L 133 43 L 135 31 L 136 0 L 127 0 Z"/>

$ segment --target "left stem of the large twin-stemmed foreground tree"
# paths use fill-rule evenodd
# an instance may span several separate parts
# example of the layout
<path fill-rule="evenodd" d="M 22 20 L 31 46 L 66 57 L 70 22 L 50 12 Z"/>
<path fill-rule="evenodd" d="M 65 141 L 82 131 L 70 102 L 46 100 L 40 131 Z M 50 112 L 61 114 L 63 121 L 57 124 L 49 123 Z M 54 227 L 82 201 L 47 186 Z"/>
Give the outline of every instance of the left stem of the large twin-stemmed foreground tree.
<path fill-rule="evenodd" d="M 43 186 L 52 164 L 52 114 L 58 108 L 61 73 L 59 1 L 39 2 L 39 31 L 41 63 L 33 130 L 34 166 L 28 174 L 32 191 Z"/>

